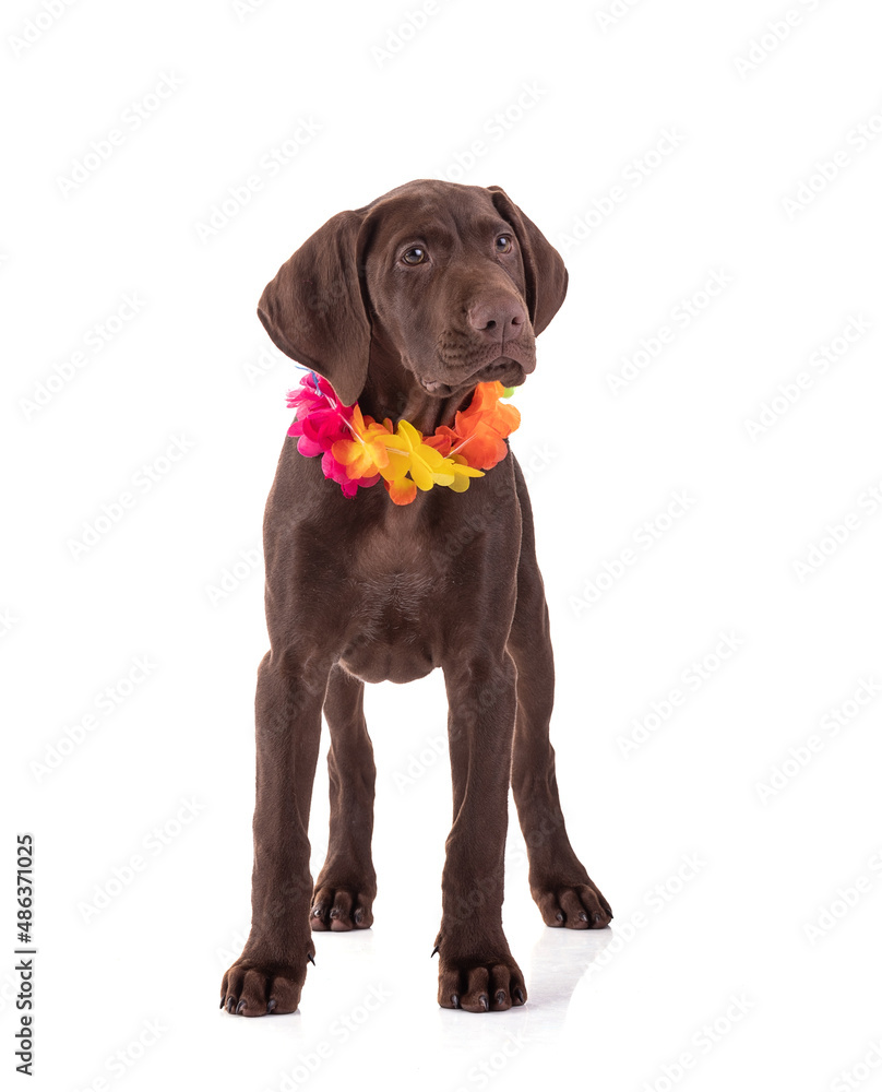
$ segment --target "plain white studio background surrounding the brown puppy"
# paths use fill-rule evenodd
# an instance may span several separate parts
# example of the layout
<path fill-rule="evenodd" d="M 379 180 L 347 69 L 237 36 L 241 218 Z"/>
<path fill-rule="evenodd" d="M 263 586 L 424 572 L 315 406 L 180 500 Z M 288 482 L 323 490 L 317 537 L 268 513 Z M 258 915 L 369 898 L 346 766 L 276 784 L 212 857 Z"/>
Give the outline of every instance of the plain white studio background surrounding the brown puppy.
<path fill-rule="evenodd" d="M 882 1031 L 878 4 L 44 11 L 3 11 L 3 1081 L 24 1081 L 12 874 L 27 830 L 31 1088 L 882 1088 L 863 1063 Z M 180 85 L 151 97 L 159 84 Z M 114 129 L 121 143 L 90 155 Z M 271 175 L 262 158 L 298 130 Z M 95 169 L 71 187 L 75 161 Z M 250 201 L 201 239 L 252 175 Z M 570 270 L 513 446 L 552 615 L 564 810 L 616 921 L 544 928 L 515 828 L 504 915 L 529 1002 L 438 1009 L 442 680 L 378 686 L 374 928 L 318 938 L 297 1014 L 234 1019 L 217 1004 L 249 921 L 254 551 L 300 375 L 254 308 L 330 215 L 419 177 L 502 185 Z M 701 295 L 714 272 L 729 283 Z M 127 295 L 143 304 L 108 340 Z M 866 329 L 835 342 L 849 319 Z M 662 352 L 613 393 L 642 340 Z M 831 344 L 847 351 L 822 372 Z M 788 402 L 778 387 L 800 372 Z M 678 491 L 689 510 L 668 517 Z M 122 518 L 76 550 L 103 506 Z M 634 538 L 647 522 L 651 548 Z M 653 720 L 671 689 L 682 703 Z M 322 765 L 314 868 L 325 795 Z"/>

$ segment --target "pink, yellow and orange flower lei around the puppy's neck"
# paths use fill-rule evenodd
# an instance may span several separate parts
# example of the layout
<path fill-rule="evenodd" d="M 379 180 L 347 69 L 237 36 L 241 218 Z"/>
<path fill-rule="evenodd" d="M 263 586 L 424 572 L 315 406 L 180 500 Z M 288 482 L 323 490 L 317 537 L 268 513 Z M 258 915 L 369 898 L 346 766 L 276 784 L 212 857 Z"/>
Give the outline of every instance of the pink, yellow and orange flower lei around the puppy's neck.
<path fill-rule="evenodd" d="M 382 478 L 396 505 L 409 505 L 417 489 L 436 485 L 465 492 L 473 477 L 484 477 L 505 458 L 505 437 L 521 424 L 521 414 L 499 400 L 513 393 L 500 382 L 478 383 L 453 427 L 441 425 L 425 437 L 407 420 L 393 426 L 389 417 L 363 416 L 358 403 L 343 405 L 327 380 L 310 371 L 299 390 L 288 392 L 288 405 L 297 411 L 288 436 L 299 437 L 301 455 L 322 456 L 324 476 L 345 497 Z"/>

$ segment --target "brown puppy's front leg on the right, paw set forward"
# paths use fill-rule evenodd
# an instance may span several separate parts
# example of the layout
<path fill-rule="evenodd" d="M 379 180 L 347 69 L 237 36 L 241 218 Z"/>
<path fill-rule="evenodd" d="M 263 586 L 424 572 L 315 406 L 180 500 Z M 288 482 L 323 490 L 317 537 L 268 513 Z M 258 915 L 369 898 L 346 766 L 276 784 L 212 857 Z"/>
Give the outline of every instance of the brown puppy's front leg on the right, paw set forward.
<path fill-rule="evenodd" d="M 438 1002 L 469 1012 L 523 1005 L 524 976 L 502 931 L 509 774 L 516 711 L 506 652 L 444 666 L 453 828 L 441 881 Z"/>

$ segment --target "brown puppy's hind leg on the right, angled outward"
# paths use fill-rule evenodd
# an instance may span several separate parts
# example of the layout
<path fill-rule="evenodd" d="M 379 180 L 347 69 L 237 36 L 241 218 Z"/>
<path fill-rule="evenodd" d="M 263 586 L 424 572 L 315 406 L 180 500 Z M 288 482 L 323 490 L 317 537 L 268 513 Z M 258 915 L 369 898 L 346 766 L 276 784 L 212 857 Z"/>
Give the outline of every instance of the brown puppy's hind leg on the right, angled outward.
<path fill-rule="evenodd" d="M 536 562 L 533 512 L 515 462 L 522 539 L 517 605 L 509 652 L 517 667 L 517 717 L 512 748 L 512 791 L 529 858 L 529 889 L 546 925 L 598 929 L 612 911 L 570 845 L 558 796 L 549 722 L 555 661 L 543 578 Z"/>

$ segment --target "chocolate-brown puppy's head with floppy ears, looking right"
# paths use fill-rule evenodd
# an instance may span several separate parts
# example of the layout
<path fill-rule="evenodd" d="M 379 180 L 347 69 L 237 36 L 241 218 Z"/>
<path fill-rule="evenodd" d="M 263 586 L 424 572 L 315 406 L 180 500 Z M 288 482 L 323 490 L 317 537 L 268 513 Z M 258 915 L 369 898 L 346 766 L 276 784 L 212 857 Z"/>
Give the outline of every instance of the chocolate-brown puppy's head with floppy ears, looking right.
<path fill-rule="evenodd" d="M 279 269 L 258 314 L 350 405 L 372 340 L 437 397 L 519 385 L 565 293 L 562 258 L 498 186 L 420 180 L 332 216 Z"/>

